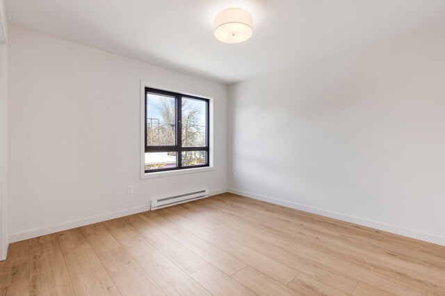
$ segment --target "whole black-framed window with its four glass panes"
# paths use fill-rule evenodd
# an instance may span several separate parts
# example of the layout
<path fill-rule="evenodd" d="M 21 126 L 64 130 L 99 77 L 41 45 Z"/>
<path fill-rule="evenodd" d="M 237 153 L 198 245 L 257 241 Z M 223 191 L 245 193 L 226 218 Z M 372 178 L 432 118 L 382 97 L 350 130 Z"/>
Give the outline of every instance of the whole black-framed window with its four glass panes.
<path fill-rule="evenodd" d="M 209 166 L 209 100 L 145 87 L 145 173 Z"/>

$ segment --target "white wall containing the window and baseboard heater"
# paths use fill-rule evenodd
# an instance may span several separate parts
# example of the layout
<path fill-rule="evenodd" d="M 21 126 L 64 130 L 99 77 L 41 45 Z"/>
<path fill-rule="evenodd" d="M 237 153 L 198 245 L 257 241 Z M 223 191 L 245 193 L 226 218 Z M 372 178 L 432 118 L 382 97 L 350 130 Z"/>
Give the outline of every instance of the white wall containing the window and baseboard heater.
<path fill-rule="evenodd" d="M 8 33 L 11 241 L 143 211 L 156 196 L 227 189 L 226 85 L 14 26 Z M 140 80 L 214 98 L 215 171 L 140 180 Z"/>

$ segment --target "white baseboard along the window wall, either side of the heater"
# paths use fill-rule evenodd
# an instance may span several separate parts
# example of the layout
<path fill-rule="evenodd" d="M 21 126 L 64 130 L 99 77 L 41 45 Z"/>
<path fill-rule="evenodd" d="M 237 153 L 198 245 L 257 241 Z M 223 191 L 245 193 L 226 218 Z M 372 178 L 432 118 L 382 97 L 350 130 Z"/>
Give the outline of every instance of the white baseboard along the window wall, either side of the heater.
<path fill-rule="evenodd" d="M 216 189 L 216 190 L 210 191 L 209 192 L 209 196 L 217 195 L 217 194 L 220 194 L 220 193 L 226 193 L 226 192 L 228 192 L 227 188 L 225 188 L 225 189 Z M 24 241 L 25 239 L 35 238 L 35 237 L 38 237 L 38 236 L 44 236 L 46 234 L 54 234 L 54 232 L 62 232 L 63 230 L 72 229 L 72 228 L 76 228 L 76 227 L 81 227 L 81 226 L 89 225 L 89 224 L 92 224 L 92 223 L 99 223 L 99 222 L 102 222 L 102 221 L 115 219 L 115 218 L 120 218 L 120 217 L 124 217 L 124 216 L 128 216 L 128 215 L 138 214 L 138 213 L 141 213 L 143 211 L 149 211 L 149 205 L 148 204 L 146 206 L 134 207 L 134 208 L 131 208 L 131 209 L 125 209 L 123 211 L 115 211 L 115 212 L 110 213 L 110 214 L 99 215 L 99 216 L 94 216 L 94 217 L 90 217 L 90 218 L 74 220 L 74 221 L 71 221 L 71 222 L 62 223 L 62 224 L 58 224 L 58 225 L 52 225 L 52 226 L 49 226 L 49 227 L 33 229 L 33 230 L 30 230 L 29 232 L 22 232 L 22 233 L 19 233 L 19 234 L 11 234 L 9 236 L 9 242 L 10 243 L 15 243 L 17 241 Z"/>

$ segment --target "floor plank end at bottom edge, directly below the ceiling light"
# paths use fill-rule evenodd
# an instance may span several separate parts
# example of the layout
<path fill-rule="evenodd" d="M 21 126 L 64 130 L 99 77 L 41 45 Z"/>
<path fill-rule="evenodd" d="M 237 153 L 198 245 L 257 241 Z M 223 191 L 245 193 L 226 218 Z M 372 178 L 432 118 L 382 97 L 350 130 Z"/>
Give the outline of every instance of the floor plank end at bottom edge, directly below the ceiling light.
<path fill-rule="evenodd" d="M 255 294 L 229 277 L 224 272 L 218 270 L 218 268 L 209 264 L 190 275 L 198 284 L 206 288 L 213 296 L 225 296 L 225 295 L 239 295 L 239 296 L 254 296 Z M 218 283 L 217 285 L 215 283 Z"/>

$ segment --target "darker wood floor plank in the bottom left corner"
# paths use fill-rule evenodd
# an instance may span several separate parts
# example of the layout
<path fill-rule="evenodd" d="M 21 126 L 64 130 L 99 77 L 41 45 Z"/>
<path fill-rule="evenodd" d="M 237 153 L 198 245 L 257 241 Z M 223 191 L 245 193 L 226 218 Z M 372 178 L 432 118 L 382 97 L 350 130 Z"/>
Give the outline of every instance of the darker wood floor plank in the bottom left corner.
<path fill-rule="evenodd" d="M 0 261 L 0 288 L 4 295 L 30 295 L 28 240 L 9 245 L 7 259 Z"/>

